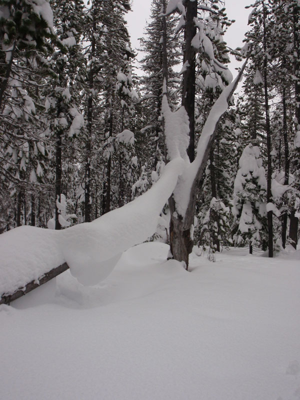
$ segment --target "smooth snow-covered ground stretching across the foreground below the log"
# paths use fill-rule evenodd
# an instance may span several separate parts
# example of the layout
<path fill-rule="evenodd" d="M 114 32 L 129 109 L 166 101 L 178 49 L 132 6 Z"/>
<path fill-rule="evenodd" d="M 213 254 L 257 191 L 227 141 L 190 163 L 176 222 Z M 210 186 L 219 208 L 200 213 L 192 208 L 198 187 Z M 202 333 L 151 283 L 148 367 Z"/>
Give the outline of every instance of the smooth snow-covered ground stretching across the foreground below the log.
<path fill-rule="evenodd" d="M 5 400 L 300 399 L 299 251 L 268 259 L 123 253 L 98 286 L 69 271 L 0 306 Z"/>

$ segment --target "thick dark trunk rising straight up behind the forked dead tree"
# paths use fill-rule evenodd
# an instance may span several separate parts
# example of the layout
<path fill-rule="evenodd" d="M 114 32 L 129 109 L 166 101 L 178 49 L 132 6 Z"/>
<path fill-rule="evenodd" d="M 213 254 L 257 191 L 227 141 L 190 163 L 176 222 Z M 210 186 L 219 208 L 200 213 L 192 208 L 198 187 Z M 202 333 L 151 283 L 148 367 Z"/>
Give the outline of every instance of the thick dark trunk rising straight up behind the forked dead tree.
<path fill-rule="evenodd" d="M 185 21 L 185 48 L 183 56 L 183 65 L 185 70 L 183 72 L 182 83 L 182 101 L 188 118 L 189 118 L 189 145 L 187 148 L 187 155 L 190 161 L 195 158 L 195 67 L 196 67 L 196 49 L 192 47 L 191 41 L 197 33 L 197 28 L 194 23 L 194 18 L 197 17 L 198 1 L 186 1 L 186 21 Z"/>

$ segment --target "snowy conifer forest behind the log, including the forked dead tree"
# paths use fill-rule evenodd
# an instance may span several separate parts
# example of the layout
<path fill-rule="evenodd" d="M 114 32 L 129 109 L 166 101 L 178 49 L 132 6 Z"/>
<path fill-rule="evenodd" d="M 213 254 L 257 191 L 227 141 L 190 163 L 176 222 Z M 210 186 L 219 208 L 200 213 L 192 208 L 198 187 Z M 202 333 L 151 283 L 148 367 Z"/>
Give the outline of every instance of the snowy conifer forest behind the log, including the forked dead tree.
<path fill-rule="evenodd" d="M 296 248 L 300 2 L 248 8 L 233 49 L 224 1 L 152 0 L 137 67 L 129 0 L 0 0 L 0 232 L 93 221 L 180 158 L 170 257 Z"/>

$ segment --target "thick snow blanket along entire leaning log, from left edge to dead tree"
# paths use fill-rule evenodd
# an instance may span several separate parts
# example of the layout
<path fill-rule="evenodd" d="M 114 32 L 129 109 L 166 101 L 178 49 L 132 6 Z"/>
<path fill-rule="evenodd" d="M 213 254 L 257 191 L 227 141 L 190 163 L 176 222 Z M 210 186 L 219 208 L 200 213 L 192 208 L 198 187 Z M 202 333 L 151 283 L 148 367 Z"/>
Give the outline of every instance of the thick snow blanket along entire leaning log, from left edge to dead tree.
<path fill-rule="evenodd" d="M 67 262 L 84 284 L 95 284 L 111 272 L 121 253 L 156 231 L 157 219 L 182 172 L 181 158 L 166 165 L 143 195 L 92 222 L 64 230 L 21 226 L 0 235 L 0 293 L 12 293 L 45 272 Z M 65 209 L 61 194 L 59 208 Z M 68 216 L 61 215 L 66 220 Z M 61 222 L 63 220 L 61 219 Z M 53 218 L 49 227 L 53 227 Z"/>

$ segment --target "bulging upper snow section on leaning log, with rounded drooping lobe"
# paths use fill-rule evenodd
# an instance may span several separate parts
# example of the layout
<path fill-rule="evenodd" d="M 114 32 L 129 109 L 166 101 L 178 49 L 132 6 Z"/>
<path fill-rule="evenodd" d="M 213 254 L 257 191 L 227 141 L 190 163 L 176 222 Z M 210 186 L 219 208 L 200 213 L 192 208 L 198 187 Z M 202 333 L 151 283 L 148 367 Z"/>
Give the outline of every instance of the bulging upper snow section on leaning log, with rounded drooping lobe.
<path fill-rule="evenodd" d="M 156 231 L 160 211 L 182 172 L 180 158 L 169 162 L 144 194 L 92 222 L 62 231 L 61 246 L 71 273 L 83 284 L 95 284 L 113 269 L 121 253 Z"/>

